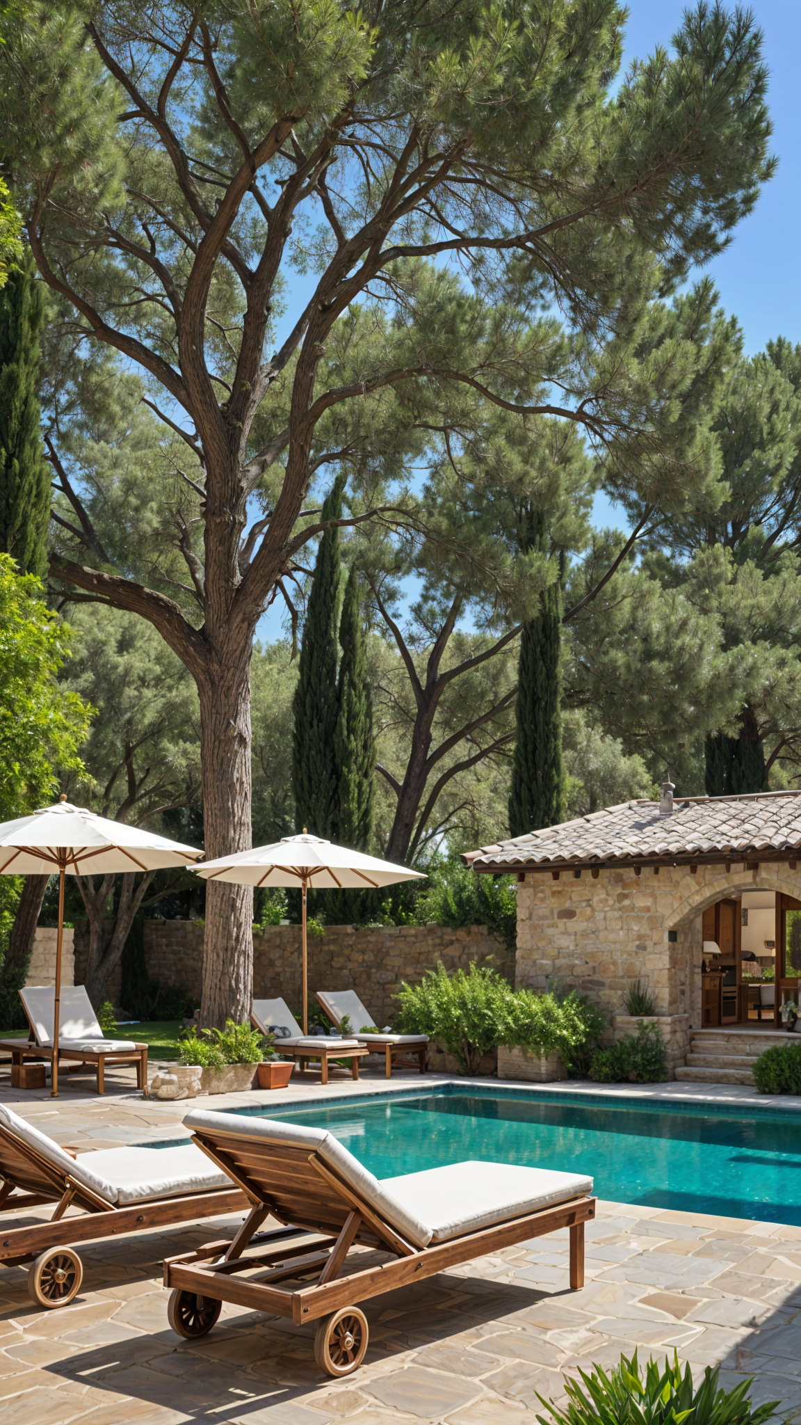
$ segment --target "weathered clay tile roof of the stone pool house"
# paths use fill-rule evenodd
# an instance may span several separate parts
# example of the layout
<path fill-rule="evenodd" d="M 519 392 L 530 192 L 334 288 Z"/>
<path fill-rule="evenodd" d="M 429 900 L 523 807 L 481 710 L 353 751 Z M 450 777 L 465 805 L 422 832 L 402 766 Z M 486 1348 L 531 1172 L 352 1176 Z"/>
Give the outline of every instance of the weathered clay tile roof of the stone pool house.
<path fill-rule="evenodd" d="M 745 797 L 677 797 L 671 815 L 657 801 L 606 807 L 559 826 L 465 854 L 476 871 L 591 866 L 637 861 L 727 861 L 801 848 L 801 791 Z"/>

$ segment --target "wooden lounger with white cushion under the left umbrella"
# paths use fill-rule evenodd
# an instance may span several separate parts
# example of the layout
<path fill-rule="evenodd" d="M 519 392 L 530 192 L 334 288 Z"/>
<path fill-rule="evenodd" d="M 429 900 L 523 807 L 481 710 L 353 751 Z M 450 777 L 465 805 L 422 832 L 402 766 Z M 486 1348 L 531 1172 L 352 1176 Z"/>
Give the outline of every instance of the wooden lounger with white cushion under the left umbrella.
<path fill-rule="evenodd" d="M 56 990 L 51 986 L 27 985 L 20 990 L 23 1009 L 30 1025 L 24 1039 L 4 1039 L 3 1049 L 11 1050 L 11 1072 L 14 1062 L 26 1059 L 53 1059 L 53 1027 L 56 1015 Z M 66 985 L 60 996 L 58 1063 L 71 1062 L 94 1066 L 97 1092 L 104 1090 L 105 1063 L 135 1064 L 137 1087 L 147 1099 L 147 1045 L 130 1039 L 107 1039 L 84 985 Z"/>

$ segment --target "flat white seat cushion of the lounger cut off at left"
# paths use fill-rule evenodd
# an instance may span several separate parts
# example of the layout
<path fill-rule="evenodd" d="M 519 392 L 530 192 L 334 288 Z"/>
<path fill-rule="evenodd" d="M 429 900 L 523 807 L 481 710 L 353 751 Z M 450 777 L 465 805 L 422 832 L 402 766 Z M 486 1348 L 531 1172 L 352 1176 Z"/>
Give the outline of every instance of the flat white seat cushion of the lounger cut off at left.
<path fill-rule="evenodd" d="M 120 1206 L 232 1187 L 228 1174 L 194 1143 L 181 1143 L 174 1149 L 103 1149 L 100 1153 L 80 1153 L 76 1161 L 87 1170 L 91 1164 L 91 1170 L 108 1181 Z"/>

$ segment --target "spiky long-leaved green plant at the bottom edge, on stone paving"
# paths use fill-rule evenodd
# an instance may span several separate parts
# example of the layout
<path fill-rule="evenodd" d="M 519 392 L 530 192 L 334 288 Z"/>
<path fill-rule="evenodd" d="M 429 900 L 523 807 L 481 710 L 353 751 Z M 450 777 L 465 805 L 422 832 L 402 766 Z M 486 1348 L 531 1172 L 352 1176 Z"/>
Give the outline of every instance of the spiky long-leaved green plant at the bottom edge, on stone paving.
<path fill-rule="evenodd" d="M 550 1412 L 550 1419 L 537 1415 L 540 1425 L 763 1425 L 778 1405 L 778 1401 L 751 1405 L 747 1395 L 753 1378 L 740 1381 L 731 1391 L 718 1389 L 717 1365 L 714 1369 L 707 1365 L 694 1391 L 693 1372 L 686 1365 L 681 1374 L 676 1352 L 673 1364 L 666 1359 L 661 1372 L 656 1361 L 648 1361 L 644 1379 L 636 1351 L 630 1361 L 621 1355 L 610 1375 L 600 1365 L 593 1367 L 591 1375 L 579 1374 L 584 1389 L 579 1381 L 564 1377 L 566 1411 L 539 1395 Z"/>

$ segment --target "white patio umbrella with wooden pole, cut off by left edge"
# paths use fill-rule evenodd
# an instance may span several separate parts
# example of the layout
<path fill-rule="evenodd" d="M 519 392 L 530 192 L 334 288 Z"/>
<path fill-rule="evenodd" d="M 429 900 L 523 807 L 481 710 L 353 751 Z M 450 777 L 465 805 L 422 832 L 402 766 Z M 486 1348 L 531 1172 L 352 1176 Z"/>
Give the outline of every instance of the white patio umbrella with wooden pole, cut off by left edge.
<path fill-rule="evenodd" d="M 141 826 L 95 817 L 71 807 L 63 795 L 54 807 L 0 824 L 0 875 L 47 876 L 58 872 L 58 936 L 56 940 L 56 1015 L 53 1022 L 51 1094 L 58 1097 L 58 1009 L 61 996 L 61 939 L 64 935 L 64 876 L 81 872 L 161 871 L 202 856 L 195 846 L 168 841 Z"/>

